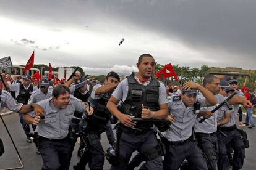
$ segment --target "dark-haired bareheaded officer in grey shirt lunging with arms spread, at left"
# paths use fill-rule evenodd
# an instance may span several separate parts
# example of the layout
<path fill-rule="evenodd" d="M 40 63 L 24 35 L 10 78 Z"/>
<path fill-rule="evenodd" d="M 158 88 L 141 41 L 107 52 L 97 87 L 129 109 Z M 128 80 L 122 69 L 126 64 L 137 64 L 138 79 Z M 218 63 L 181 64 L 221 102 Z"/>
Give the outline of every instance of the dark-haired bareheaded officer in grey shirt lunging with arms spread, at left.
<path fill-rule="evenodd" d="M 69 88 L 58 85 L 53 89 L 51 99 L 38 103 L 45 109 L 45 119 L 35 116 L 33 112 L 24 115 L 25 120 L 37 125 L 40 140 L 40 153 L 43 159 L 41 169 L 69 169 L 70 138 L 69 124 L 75 111 L 84 112 L 85 105 L 69 94 Z M 86 107 L 88 115 L 93 108 Z M 35 118 L 33 118 L 35 117 Z"/>

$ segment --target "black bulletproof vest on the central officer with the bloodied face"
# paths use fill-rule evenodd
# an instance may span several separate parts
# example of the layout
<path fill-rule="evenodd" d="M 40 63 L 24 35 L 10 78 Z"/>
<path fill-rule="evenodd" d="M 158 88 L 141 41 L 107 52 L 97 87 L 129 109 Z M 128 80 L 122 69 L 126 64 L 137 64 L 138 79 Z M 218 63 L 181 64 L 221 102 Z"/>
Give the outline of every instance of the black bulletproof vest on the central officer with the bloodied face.
<path fill-rule="evenodd" d="M 151 111 L 159 110 L 159 87 L 157 79 L 152 78 L 147 86 L 139 84 L 134 78 L 134 74 L 127 76 L 128 79 L 128 94 L 125 105 L 130 105 L 130 107 L 124 107 L 126 110 L 124 112 L 127 115 L 135 116 L 135 118 L 141 118 L 142 104 L 148 107 Z M 135 128 L 148 129 L 153 127 L 153 123 L 140 122 L 137 123 Z"/>

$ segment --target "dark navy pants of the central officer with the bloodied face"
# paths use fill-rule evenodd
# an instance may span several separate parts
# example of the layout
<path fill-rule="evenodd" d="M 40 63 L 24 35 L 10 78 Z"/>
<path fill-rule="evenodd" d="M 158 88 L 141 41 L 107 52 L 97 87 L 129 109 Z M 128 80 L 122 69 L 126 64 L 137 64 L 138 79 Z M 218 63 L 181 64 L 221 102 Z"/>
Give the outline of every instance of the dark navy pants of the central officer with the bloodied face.
<path fill-rule="evenodd" d="M 111 169 L 126 170 L 132 153 L 137 150 L 139 153 L 145 153 L 148 150 L 156 147 L 158 142 L 153 130 L 145 132 L 145 134 L 127 134 L 122 132 L 119 140 L 119 161 L 118 165 L 112 166 Z M 163 169 L 163 163 L 161 156 L 153 158 L 153 160 L 146 161 L 143 164 L 144 168 L 160 170 Z"/>

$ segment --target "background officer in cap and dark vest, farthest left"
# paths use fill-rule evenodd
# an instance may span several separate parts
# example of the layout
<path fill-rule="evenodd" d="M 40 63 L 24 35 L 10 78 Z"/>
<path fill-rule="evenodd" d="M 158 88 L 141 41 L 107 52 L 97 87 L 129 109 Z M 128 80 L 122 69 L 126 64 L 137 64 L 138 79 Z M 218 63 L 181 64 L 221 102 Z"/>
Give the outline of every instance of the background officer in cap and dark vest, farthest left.
<path fill-rule="evenodd" d="M 2 76 L 4 76 L 4 73 L 2 73 Z M 28 99 L 30 98 L 30 95 L 33 91 L 35 91 L 37 88 L 32 85 L 31 77 L 26 75 L 22 78 L 21 84 L 8 84 L 4 80 L 4 84 L 6 84 L 7 89 L 10 89 L 10 91 L 15 92 L 15 99 L 17 102 L 22 104 L 27 104 Z M 32 140 L 30 139 L 30 127 L 28 123 L 25 123 L 25 121 L 22 118 L 22 115 L 20 115 L 20 124 L 22 124 L 23 130 L 27 136 L 27 142 L 32 143 Z"/>

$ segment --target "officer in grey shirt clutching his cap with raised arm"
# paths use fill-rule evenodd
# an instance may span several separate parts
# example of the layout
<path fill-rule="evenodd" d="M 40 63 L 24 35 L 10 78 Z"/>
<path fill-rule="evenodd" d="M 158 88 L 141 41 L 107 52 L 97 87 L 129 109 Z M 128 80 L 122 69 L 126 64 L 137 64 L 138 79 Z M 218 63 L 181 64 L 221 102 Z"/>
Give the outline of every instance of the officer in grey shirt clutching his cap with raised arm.
<path fill-rule="evenodd" d="M 198 102 L 196 102 L 197 89 L 204 96 Z M 181 95 L 173 97 L 171 114 L 174 121 L 170 128 L 163 133 L 163 136 L 168 139 L 168 149 L 164 156 L 163 169 L 179 169 L 185 159 L 190 164 L 194 164 L 197 169 L 207 169 L 205 159 L 193 137 L 192 127 L 198 116 L 195 109 L 216 105 L 217 102 L 210 91 L 193 82 L 185 83 Z M 205 117 L 208 118 L 208 115 L 205 115 Z"/>

